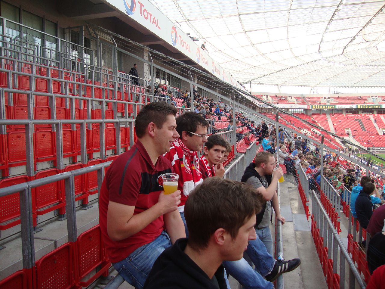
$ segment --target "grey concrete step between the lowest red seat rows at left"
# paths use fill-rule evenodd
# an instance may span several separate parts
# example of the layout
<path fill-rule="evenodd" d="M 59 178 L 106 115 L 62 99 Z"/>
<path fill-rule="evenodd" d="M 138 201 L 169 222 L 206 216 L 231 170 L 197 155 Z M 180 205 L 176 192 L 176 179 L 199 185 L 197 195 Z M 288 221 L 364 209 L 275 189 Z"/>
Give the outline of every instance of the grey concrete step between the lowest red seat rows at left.
<path fill-rule="evenodd" d="M 99 204 L 97 200 L 90 203 L 92 207 L 82 210 L 80 207 L 76 212 L 77 235 L 94 227 L 99 223 Z M 52 222 L 38 227 L 42 229 L 34 234 L 35 260 L 39 260 L 45 254 L 68 242 L 67 221 L 53 220 Z M 23 268 L 22 263 L 22 240 L 17 237 L 5 244 L 0 250 L 0 280 Z"/>

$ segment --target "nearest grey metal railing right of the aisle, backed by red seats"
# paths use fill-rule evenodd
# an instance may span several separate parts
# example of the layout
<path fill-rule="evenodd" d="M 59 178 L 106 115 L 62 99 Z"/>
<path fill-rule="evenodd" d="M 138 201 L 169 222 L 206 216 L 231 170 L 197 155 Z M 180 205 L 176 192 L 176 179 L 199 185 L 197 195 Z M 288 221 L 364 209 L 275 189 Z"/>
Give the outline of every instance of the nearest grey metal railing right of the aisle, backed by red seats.
<path fill-rule="evenodd" d="M 364 289 L 365 282 L 314 190 L 311 197 L 311 233 L 328 287 L 331 288 L 335 284 L 339 285 L 340 289 L 354 289 L 357 283 L 359 288 Z"/>

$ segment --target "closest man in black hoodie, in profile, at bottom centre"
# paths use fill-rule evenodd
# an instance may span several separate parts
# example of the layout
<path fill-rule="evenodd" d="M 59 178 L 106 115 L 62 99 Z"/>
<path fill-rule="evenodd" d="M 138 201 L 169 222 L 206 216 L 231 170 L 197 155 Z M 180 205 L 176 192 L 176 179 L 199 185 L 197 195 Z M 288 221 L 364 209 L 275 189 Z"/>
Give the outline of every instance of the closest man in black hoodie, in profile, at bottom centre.
<path fill-rule="evenodd" d="M 207 178 L 184 207 L 189 238 L 164 250 L 144 288 L 227 289 L 222 263 L 241 259 L 248 241 L 256 239 L 255 214 L 261 203 L 250 185 Z"/>

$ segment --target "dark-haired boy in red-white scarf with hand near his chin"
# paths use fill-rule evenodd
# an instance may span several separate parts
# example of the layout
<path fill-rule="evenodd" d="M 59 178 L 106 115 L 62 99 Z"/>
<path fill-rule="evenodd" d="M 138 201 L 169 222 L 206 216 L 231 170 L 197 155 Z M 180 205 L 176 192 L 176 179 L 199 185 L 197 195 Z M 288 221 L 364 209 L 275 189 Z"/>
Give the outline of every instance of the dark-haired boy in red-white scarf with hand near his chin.
<path fill-rule="evenodd" d="M 223 178 L 224 167 L 221 160 L 226 153 L 227 141 L 218 134 L 213 134 L 204 143 L 203 155 L 199 158 L 199 170 L 203 180 L 211 176 Z"/>

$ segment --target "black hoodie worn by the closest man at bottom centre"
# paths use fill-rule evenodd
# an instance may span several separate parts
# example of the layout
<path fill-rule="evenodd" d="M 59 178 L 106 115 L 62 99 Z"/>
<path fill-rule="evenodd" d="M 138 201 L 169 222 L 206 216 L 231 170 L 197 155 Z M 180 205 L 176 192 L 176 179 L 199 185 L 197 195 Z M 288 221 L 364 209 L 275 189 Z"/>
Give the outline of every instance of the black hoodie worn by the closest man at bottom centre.
<path fill-rule="evenodd" d="M 227 289 L 224 267 L 220 265 L 215 272 L 216 282 L 184 253 L 187 239 L 178 239 L 156 259 L 143 289 Z"/>

